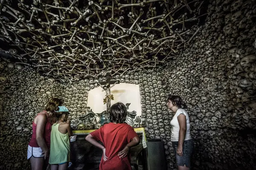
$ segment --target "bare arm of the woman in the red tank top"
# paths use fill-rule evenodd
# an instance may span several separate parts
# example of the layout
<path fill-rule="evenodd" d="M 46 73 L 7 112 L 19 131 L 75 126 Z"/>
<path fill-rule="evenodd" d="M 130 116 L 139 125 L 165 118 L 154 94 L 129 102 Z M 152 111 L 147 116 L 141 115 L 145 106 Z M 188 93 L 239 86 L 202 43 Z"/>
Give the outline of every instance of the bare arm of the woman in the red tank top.
<path fill-rule="evenodd" d="M 41 147 L 41 149 L 44 152 L 44 158 L 46 158 L 49 154 L 48 148 L 47 148 L 47 145 L 45 144 L 44 136 L 43 136 L 46 122 L 47 122 L 46 115 L 39 114 L 37 116 L 35 139 L 36 139 L 36 142 L 38 143 L 38 146 Z"/>

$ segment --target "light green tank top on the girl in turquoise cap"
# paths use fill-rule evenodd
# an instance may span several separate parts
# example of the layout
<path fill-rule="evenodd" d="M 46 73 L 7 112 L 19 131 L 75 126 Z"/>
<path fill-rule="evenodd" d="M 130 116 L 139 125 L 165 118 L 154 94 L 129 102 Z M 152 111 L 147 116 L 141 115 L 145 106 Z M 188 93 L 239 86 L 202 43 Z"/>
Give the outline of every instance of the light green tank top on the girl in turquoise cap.
<path fill-rule="evenodd" d="M 58 124 L 52 125 L 49 164 L 61 164 L 70 161 L 70 139 L 68 133 L 58 131 Z"/>

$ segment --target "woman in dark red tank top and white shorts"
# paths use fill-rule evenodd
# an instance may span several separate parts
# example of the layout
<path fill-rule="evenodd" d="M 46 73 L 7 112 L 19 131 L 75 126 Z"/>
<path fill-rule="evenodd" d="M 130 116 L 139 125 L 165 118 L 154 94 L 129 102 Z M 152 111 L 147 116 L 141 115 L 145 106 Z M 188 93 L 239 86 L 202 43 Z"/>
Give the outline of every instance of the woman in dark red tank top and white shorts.
<path fill-rule="evenodd" d="M 46 170 L 49 162 L 49 148 L 52 123 L 55 122 L 53 113 L 58 110 L 61 100 L 52 98 L 46 105 L 45 111 L 35 116 L 32 125 L 32 137 L 28 146 L 27 159 L 30 159 L 32 170 Z"/>

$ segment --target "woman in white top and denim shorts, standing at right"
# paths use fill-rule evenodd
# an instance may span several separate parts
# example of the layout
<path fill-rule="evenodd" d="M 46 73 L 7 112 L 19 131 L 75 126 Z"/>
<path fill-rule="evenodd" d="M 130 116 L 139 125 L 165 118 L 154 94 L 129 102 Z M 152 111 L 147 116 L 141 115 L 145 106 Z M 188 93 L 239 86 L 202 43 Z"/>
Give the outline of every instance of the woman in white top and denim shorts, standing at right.
<path fill-rule="evenodd" d="M 172 126 L 171 141 L 173 151 L 176 154 L 177 168 L 178 170 L 189 170 L 194 144 L 190 135 L 189 114 L 182 109 L 186 105 L 180 96 L 169 95 L 167 107 L 175 113 L 170 124 Z"/>

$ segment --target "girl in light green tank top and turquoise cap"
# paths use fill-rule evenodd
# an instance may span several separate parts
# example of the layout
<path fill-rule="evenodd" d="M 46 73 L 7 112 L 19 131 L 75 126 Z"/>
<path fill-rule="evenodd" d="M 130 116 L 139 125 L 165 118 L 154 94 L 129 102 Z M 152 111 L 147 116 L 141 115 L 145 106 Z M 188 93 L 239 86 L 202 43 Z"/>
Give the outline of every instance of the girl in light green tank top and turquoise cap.
<path fill-rule="evenodd" d="M 68 109 L 59 106 L 55 112 L 56 122 L 52 125 L 49 164 L 51 170 L 67 170 L 70 161 L 70 136 L 73 132 L 67 120 Z"/>

